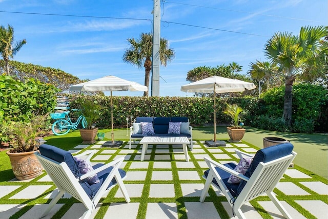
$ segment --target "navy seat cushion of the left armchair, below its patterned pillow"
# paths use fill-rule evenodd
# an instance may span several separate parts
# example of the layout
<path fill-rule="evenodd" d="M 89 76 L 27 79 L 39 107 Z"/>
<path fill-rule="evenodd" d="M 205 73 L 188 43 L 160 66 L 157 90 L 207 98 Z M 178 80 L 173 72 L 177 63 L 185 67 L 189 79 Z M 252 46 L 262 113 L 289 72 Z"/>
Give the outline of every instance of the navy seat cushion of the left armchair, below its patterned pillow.
<path fill-rule="evenodd" d="M 104 164 L 96 164 L 93 167 L 93 169 L 97 169 L 101 166 L 104 166 Z M 80 185 L 82 186 L 82 188 L 86 191 L 86 193 L 88 194 L 88 196 L 90 198 L 93 198 L 94 195 L 98 192 L 99 188 L 101 187 L 101 185 L 103 185 L 103 183 L 105 182 L 106 178 L 108 177 L 109 173 L 112 171 L 113 167 L 109 167 L 103 171 L 100 171 L 97 173 L 98 177 L 99 177 L 99 183 L 95 183 L 95 184 L 89 184 L 86 181 L 81 181 Z M 120 176 L 123 178 L 126 176 L 126 172 L 122 169 L 118 169 L 118 172 L 120 174 Z M 113 178 L 113 180 L 110 182 L 109 187 L 113 186 L 116 184 L 116 180 L 115 177 Z"/>

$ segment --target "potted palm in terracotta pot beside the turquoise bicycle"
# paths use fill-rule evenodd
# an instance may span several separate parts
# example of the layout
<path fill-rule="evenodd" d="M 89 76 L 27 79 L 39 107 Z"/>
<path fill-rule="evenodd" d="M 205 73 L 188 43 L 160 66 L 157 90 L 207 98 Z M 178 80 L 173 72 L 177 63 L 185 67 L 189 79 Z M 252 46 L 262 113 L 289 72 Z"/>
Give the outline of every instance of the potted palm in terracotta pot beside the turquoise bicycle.
<path fill-rule="evenodd" d="M 89 99 L 80 99 L 79 101 L 80 110 L 77 113 L 84 115 L 87 121 L 87 127 L 80 129 L 81 138 L 83 144 L 93 144 L 96 140 L 95 137 L 98 132 L 98 128 L 95 127 L 97 120 L 101 116 L 101 110 L 103 106 L 99 105 L 96 101 Z"/>

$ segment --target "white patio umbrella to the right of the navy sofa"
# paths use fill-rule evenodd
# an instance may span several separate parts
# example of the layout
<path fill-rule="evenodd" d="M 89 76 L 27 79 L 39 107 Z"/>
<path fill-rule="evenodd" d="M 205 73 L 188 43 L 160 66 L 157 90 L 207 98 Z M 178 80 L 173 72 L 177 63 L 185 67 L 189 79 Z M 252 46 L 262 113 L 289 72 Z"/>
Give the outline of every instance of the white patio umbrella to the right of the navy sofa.
<path fill-rule="evenodd" d="M 188 85 L 181 86 L 181 91 L 184 92 L 199 92 L 199 93 L 214 93 L 214 143 L 207 142 L 211 146 L 217 144 L 216 141 L 216 103 L 215 96 L 217 93 L 230 93 L 230 92 L 242 92 L 244 90 L 252 90 L 256 88 L 253 83 L 240 81 L 237 79 L 231 79 L 220 76 L 211 76 L 199 81 L 190 83 Z M 222 141 L 218 142 L 218 145 L 222 144 Z"/>

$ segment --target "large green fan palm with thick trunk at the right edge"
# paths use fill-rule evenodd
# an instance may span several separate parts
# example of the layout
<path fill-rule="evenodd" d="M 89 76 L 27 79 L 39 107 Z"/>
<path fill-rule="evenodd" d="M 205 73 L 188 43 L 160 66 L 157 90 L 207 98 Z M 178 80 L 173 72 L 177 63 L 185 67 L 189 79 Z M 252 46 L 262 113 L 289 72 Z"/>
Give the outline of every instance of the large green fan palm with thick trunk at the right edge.
<path fill-rule="evenodd" d="M 327 73 L 324 57 L 328 49 L 320 40 L 327 32 L 324 26 L 302 27 L 298 36 L 278 32 L 265 44 L 265 56 L 278 66 L 277 74 L 285 78 L 283 119 L 288 126 L 292 124 L 293 83 L 296 77 L 316 78 Z"/>

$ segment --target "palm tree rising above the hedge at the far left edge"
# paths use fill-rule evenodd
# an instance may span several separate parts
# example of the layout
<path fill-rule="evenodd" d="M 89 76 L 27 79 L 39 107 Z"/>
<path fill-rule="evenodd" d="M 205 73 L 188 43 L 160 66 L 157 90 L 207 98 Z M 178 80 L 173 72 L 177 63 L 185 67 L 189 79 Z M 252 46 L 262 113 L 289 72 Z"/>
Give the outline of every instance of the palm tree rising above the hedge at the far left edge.
<path fill-rule="evenodd" d="M 9 72 L 9 58 L 14 58 L 14 55 L 26 44 L 26 40 L 17 41 L 14 44 L 14 28 L 8 25 L 8 28 L 0 26 L 0 53 L 4 58 L 7 74 Z"/>

